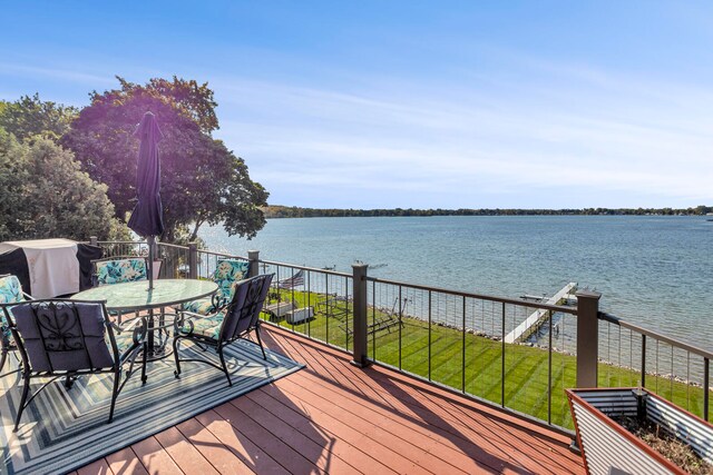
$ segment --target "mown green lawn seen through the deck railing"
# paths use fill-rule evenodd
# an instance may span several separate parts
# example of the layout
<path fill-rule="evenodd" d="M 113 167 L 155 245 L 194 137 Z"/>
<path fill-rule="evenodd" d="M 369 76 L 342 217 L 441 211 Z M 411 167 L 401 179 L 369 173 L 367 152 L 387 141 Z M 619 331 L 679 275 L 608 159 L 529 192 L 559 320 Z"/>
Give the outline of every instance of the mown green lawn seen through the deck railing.
<path fill-rule="evenodd" d="M 352 349 L 348 331 L 352 326 L 350 304 L 341 301 L 324 305 L 323 296 L 292 290 L 282 290 L 280 298 L 293 300 L 297 307 L 314 307 L 315 317 L 300 325 L 290 325 L 283 319 L 279 325 L 341 348 Z M 384 313 L 369 308 L 370 324 L 384 318 Z M 416 318 L 402 318 L 401 321 L 402 325 L 397 323 L 369 335 L 371 358 L 492 403 L 504 403 L 510 409 L 573 428 L 564 389 L 575 387 L 576 357 L 553 352 L 550 379 L 550 354 L 541 348 L 504 345 L 468 333 L 463 338 L 462 331 L 437 324 L 431 325 L 429 335 L 428 321 Z M 504 359 L 505 386 L 501 378 Z M 548 417 L 548 380 L 551 380 L 551 417 Z M 638 372 L 599 364 L 600 387 L 639 384 Z M 646 387 L 693 414 L 703 414 L 704 392 L 701 387 L 672 383 L 671 379 L 652 375 L 646 376 Z"/>

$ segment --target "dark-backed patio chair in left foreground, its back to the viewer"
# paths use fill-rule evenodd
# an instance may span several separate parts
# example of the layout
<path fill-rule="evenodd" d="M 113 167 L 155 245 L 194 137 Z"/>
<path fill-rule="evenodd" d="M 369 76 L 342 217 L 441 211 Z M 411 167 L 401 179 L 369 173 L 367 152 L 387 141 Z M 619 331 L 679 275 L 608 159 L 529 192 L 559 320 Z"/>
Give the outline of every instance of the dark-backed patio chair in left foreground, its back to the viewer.
<path fill-rule="evenodd" d="M 66 378 L 65 386 L 70 389 L 78 376 L 113 374 L 109 423 L 114 419 L 116 398 L 134 373 L 141 349 L 141 382 L 146 383 L 145 318 L 120 327 L 109 320 L 104 303 L 98 301 L 46 299 L 1 307 L 22 358 L 25 380 L 13 432 L 25 408 L 58 378 Z M 128 368 L 124 372 L 126 364 Z M 28 398 L 30 383 L 37 378 L 43 379 L 42 386 Z"/>

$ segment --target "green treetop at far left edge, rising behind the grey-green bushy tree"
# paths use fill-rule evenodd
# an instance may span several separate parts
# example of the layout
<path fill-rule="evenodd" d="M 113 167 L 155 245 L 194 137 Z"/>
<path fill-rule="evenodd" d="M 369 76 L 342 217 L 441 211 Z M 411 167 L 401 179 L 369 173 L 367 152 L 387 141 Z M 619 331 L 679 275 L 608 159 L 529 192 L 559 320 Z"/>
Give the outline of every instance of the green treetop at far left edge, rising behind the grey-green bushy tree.
<path fill-rule="evenodd" d="M 16 102 L 0 101 L 0 127 L 22 141 L 35 136 L 52 140 L 69 130 L 77 109 L 51 101 L 41 101 L 38 93 L 23 96 Z"/>

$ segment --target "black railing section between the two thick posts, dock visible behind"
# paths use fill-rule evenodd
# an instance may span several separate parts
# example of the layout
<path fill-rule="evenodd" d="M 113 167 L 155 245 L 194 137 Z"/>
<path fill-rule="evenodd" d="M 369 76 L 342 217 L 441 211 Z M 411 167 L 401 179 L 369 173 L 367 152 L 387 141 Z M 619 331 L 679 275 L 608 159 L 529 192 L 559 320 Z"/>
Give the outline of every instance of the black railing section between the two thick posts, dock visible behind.
<path fill-rule="evenodd" d="M 367 287 L 371 360 L 570 426 L 576 308 L 375 278 Z"/>

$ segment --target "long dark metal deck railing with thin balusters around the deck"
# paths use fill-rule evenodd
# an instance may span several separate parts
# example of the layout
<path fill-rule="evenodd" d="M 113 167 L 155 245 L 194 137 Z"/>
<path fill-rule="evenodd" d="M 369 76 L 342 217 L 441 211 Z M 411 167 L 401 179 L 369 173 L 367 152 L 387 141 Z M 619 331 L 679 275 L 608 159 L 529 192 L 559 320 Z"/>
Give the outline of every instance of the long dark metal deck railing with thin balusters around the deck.
<path fill-rule="evenodd" d="M 99 243 L 110 255 L 141 243 Z M 209 278 L 222 258 L 275 274 L 265 323 L 496 407 L 572 433 L 564 389 L 645 386 L 706 420 L 713 354 L 599 311 L 599 294 L 576 306 L 462 293 L 368 275 L 158 244 L 162 277 Z M 516 343 L 506 336 L 536 310 L 543 318 Z"/>

